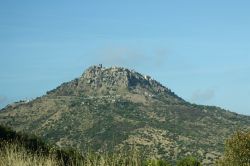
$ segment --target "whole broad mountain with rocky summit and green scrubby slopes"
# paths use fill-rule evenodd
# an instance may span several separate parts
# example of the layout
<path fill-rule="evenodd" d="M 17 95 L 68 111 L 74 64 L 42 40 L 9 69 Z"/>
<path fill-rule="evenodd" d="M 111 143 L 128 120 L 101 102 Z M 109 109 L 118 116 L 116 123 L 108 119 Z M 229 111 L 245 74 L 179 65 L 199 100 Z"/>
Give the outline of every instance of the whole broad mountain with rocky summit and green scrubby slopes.
<path fill-rule="evenodd" d="M 250 117 L 191 104 L 150 76 L 99 65 L 42 97 L 6 106 L 0 124 L 60 147 L 134 147 L 146 156 L 176 161 L 194 155 L 211 165 L 226 138 L 250 128 Z"/>

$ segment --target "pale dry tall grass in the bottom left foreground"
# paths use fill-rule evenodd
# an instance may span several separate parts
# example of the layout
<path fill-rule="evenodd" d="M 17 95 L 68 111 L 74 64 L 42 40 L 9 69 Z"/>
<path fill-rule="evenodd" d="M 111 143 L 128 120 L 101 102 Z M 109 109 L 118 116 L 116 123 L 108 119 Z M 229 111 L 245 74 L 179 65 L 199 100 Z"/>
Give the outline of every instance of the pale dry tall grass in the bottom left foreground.
<path fill-rule="evenodd" d="M 65 163 L 53 151 L 47 155 L 40 152 L 29 152 L 19 143 L 1 142 L 0 166 L 142 166 L 137 153 L 126 154 L 94 154 L 87 153 L 84 157 Z M 163 165 L 164 166 L 164 165 Z"/>

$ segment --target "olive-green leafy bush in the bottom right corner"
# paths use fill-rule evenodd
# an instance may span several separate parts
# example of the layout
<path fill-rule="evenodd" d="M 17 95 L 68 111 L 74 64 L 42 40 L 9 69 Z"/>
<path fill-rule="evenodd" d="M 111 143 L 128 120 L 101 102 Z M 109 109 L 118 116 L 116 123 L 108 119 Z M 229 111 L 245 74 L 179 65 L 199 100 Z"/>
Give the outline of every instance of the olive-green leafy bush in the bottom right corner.
<path fill-rule="evenodd" d="M 250 165 L 250 130 L 237 131 L 225 143 L 224 156 L 217 161 L 219 166 Z"/>

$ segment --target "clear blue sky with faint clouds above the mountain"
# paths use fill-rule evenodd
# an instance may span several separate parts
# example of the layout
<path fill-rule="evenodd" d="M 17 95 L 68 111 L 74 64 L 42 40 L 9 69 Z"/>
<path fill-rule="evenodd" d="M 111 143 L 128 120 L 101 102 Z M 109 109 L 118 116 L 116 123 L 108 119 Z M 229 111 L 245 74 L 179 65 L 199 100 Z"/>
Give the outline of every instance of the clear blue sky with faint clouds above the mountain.
<path fill-rule="evenodd" d="M 249 9 L 249 0 L 0 1 L 0 107 L 102 63 L 250 115 Z"/>

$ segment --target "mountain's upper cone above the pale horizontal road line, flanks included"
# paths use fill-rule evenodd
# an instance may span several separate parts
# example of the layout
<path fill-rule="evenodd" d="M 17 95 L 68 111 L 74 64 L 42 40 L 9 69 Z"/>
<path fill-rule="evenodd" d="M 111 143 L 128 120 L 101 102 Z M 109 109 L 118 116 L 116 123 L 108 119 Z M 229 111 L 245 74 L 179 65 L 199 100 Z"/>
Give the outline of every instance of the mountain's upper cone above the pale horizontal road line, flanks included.
<path fill-rule="evenodd" d="M 105 68 L 101 65 L 89 67 L 80 78 L 62 84 L 52 93 L 62 96 L 98 96 L 116 93 L 128 95 L 130 93 L 158 97 L 173 102 L 184 102 L 183 99 L 150 76 L 143 76 L 134 70 L 122 67 Z"/>

